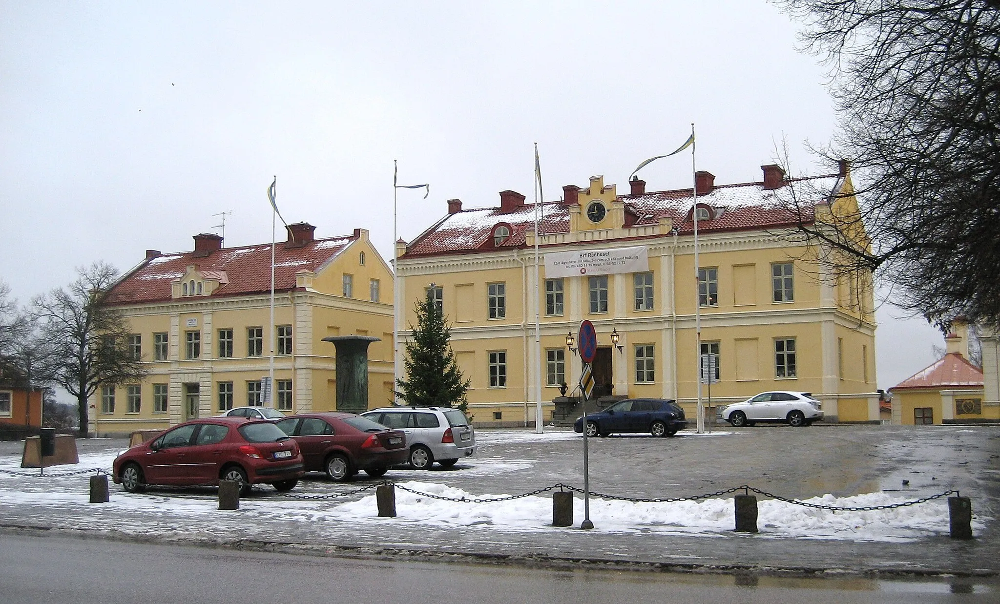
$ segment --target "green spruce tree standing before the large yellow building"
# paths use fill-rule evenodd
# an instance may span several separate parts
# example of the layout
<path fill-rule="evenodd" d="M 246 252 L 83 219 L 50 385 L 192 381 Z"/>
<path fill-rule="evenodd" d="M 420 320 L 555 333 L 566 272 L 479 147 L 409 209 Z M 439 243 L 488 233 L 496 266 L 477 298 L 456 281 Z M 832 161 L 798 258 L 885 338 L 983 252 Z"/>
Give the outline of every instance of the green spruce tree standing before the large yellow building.
<path fill-rule="evenodd" d="M 412 325 L 403 360 L 408 380 L 397 379 L 396 394 L 410 406 L 456 407 L 466 410 L 465 379 L 448 344 L 451 328 L 433 300 L 418 302 L 417 326 Z"/>

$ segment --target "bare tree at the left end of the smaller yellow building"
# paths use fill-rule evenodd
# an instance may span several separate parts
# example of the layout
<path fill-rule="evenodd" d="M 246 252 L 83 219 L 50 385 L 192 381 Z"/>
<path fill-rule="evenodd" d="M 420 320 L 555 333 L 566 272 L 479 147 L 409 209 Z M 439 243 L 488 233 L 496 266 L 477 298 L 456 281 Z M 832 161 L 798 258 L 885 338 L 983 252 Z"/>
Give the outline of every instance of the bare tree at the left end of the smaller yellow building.
<path fill-rule="evenodd" d="M 129 350 L 122 313 L 103 304 L 118 271 L 94 262 L 77 268 L 77 275 L 68 289 L 54 289 L 31 305 L 39 322 L 36 372 L 76 397 L 80 436 L 87 438 L 90 396 L 101 386 L 141 380 L 146 369 Z"/>

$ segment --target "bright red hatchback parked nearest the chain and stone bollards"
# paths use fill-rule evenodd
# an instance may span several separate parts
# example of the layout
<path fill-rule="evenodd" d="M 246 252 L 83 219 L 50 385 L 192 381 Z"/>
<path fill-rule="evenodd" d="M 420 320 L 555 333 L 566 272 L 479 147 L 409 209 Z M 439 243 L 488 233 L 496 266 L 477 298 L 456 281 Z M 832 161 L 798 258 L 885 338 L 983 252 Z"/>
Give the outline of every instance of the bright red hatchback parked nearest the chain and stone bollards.
<path fill-rule="evenodd" d="M 240 483 L 240 495 L 252 485 L 270 483 L 290 491 L 304 472 L 294 440 L 266 420 L 243 417 L 196 419 L 167 430 L 115 458 L 112 479 L 126 491 L 146 485 Z"/>

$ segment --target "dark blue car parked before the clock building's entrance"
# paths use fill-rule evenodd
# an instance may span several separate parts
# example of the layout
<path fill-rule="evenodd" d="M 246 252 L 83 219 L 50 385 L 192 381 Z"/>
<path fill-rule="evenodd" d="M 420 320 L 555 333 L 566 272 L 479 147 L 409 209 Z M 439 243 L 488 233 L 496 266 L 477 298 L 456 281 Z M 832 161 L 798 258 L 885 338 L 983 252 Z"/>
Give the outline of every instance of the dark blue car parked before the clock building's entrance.
<path fill-rule="evenodd" d="M 672 399 L 629 398 L 587 416 L 587 436 L 607 436 L 615 432 L 649 432 L 653 436 L 673 436 L 687 428 L 684 410 Z M 583 432 L 583 417 L 573 424 Z"/>

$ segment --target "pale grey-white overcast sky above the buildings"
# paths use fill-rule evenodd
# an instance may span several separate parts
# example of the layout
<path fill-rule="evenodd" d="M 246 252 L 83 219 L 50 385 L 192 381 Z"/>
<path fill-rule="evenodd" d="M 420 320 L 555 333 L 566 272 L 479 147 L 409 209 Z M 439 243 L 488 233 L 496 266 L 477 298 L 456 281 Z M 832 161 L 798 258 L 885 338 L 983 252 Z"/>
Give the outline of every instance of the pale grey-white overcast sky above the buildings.
<path fill-rule="evenodd" d="M 191 250 L 223 211 L 225 245 L 269 242 L 275 175 L 289 222 L 369 229 L 388 258 L 394 159 L 431 184 L 400 193 L 408 241 L 448 199 L 531 201 L 535 142 L 546 200 L 594 174 L 627 192 L 692 122 L 719 184 L 761 180 L 783 138 L 791 174 L 829 172 L 806 141 L 835 115 L 795 31 L 764 0 L 0 0 L 0 279 L 26 303 L 93 260 Z M 642 177 L 690 186 L 688 156 Z M 900 315 L 877 314 L 880 388 L 942 342 Z"/>

